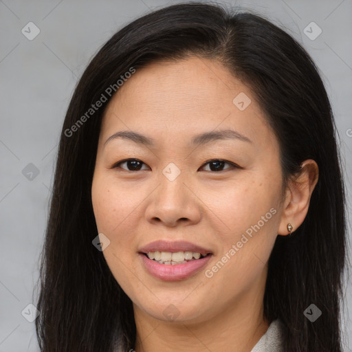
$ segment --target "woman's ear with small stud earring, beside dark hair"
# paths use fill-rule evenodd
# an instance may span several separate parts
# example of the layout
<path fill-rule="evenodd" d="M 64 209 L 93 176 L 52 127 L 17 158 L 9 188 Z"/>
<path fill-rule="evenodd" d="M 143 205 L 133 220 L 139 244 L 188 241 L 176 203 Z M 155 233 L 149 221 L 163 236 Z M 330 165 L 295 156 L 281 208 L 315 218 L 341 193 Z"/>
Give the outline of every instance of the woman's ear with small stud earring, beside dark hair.
<path fill-rule="evenodd" d="M 296 178 L 288 181 L 278 234 L 289 234 L 287 223 L 293 226 L 292 232 L 303 223 L 318 176 L 318 164 L 313 159 L 307 159 L 301 164 Z"/>

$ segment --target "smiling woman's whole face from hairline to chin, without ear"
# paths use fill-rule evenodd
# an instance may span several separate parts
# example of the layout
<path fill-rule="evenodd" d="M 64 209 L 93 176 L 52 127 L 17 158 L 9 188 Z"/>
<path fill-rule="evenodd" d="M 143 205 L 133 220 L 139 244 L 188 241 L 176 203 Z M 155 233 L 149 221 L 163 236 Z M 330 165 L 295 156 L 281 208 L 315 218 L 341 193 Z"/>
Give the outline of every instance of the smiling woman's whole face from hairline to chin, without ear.
<path fill-rule="evenodd" d="M 223 65 L 137 69 L 104 113 L 92 184 L 102 253 L 135 311 L 201 322 L 261 305 L 282 183 L 263 112 Z"/>

